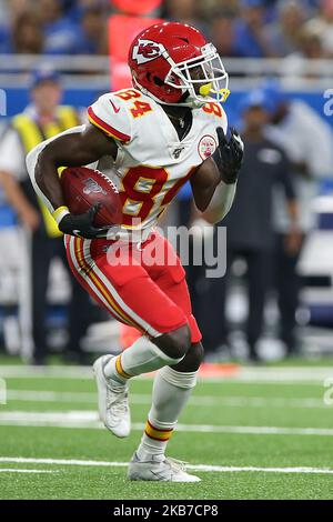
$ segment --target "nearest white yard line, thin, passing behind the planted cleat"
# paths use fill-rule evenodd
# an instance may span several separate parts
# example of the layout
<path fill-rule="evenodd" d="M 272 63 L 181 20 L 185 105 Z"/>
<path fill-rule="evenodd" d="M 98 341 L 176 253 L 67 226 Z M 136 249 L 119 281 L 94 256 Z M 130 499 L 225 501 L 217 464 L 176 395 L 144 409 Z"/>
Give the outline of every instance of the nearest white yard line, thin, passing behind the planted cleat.
<path fill-rule="evenodd" d="M 77 459 L 30 459 L 22 456 L 0 456 L 0 463 L 11 464 L 44 464 L 44 465 L 73 465 L 87 468 L 127 468 L 128 462 L 108 462 L 108 461 L 91 461 L 91 460 L 77 460 Z M 234 473 L 234 472 L 264 472 L 264 473 L 321 473 L 333 474 L 333 470 L 326 468 L 261 468 L 261 466 L 233 466 L 233 465 L 210 465 L 210 464 L 186 464 L 186 468 L 192 471 L 202 472 L 219 472 L 219 473 Z M 1 471 L 1 469 L 0 469 Z M 27 470 L 27 472 L 37 470 Z"/>

